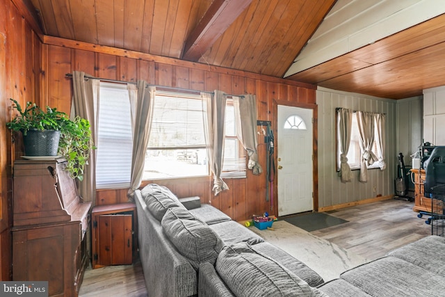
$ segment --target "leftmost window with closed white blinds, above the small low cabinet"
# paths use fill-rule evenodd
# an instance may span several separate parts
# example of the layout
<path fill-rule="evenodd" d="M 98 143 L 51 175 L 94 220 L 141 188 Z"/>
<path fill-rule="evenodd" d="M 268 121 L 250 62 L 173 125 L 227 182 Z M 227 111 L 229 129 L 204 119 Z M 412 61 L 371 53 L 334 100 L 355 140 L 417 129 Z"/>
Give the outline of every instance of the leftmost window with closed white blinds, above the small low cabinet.
<path fill-rule="evenodd" d="M 101 82 L 99 95 L 96 186 L 127 187 L 133 151 L 127 86 Z"/>

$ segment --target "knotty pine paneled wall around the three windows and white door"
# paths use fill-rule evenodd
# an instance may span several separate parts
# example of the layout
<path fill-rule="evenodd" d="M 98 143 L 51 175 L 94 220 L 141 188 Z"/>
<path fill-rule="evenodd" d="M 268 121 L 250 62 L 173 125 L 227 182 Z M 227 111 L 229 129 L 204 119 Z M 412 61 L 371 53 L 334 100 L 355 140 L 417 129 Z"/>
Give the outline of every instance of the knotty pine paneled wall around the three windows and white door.
<path fill-rule="evenodd" d="M 315 86 L 285 81 L 259 74 L 229 70 L 198 63 L 179 61 L 172 58 L 124 51 L 113 47 L 100 47 L 85 42 L 72 42 L 60 38 L 44 37 L 42 45 L 42 88 L 41 97 L 45 104 L 56 106 L 60 111 L 70 111 L 72 81 L 65 74 L 74 70 L 103 79 L 138 81 L 185 88 L 191 90 L 223 90 L 228 94 L 257 95 L 257 118 L 275 122 L 274 102 L 289 102 L 314 105 Z M 259 160 L 266 168 L 266 145 L 259 136 Z M 212 179 L 156 180 L 168 186 L 178 197 L 199 195 L 202 201 L 218 207 L 235 220 L 245 220 L 252 214 L 270 210 L 266 202 L 266 174 L 259 176 L 248 172 L 246 179 L 225 179 L 229 191 L 218 196 L 211 193 Z M 147 184 L 145 181 L 144 184 Z M 276 188 L 276 186 L 274 186 Z M 276 201 L 276 200 L 275 200 Z M 96 204 L 127 202 L 127 189 L 100 190 Z"/>

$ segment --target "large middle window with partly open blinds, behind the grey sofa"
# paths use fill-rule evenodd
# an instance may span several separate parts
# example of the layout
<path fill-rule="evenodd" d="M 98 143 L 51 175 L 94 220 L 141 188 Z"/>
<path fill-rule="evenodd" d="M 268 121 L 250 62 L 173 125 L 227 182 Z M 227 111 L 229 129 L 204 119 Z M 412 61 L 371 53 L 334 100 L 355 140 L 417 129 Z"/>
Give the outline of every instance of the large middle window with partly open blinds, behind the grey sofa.
<path fill-rule="evenodd" d="M 143 179 L 209 175 L 200 95 L 156 91 Z"/>

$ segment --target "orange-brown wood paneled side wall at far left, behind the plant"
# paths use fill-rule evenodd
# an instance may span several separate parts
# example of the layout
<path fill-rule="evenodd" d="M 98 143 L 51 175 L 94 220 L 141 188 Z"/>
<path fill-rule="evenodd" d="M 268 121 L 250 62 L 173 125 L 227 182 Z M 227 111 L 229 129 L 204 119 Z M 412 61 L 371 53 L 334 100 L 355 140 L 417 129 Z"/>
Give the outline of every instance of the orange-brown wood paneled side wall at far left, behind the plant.
<path fill-rule="evenodd" d="M 41 40 L 22 15 L 24 7 L 14 1 L 0 1 L 0 280 L 12 276 L 13 161 L 22 155 L 22 143 L 6 128 L 13 116 L 9 98 L 22 106 L 39 102 L 38 79 Z"/>

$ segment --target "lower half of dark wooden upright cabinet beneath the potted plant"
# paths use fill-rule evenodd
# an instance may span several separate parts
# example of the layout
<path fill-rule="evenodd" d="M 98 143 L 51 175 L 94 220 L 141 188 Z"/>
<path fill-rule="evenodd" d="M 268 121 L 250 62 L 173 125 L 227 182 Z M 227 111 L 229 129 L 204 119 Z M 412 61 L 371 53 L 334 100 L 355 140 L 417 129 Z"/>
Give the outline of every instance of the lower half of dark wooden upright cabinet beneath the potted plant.
<path fill-rule="evenodd" d="M 16 227 L 13 280 L 46 280 L 49 296 L 77 296 L 88 265 L 79 223 Z"/>

